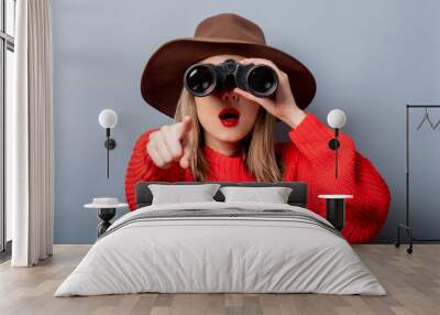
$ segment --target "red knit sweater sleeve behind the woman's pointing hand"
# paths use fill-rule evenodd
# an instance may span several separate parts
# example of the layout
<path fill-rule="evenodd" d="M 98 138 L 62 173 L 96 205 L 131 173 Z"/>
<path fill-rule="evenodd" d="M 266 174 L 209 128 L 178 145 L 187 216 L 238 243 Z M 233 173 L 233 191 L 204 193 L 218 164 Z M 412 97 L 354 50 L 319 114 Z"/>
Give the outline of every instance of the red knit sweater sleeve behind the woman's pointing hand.
<path fill-rule="evenodd" d="M 167 169 L 161 169 L 154 164 L 146 151 L 150 134 L 156 129 L 142 133 L 133 148 L 125 173 L 125 197 L 130 210 L 136 208 L 136 183 L 144 182 L 178 182 L 183 178 L 183 169 L 177 162 Z"/>

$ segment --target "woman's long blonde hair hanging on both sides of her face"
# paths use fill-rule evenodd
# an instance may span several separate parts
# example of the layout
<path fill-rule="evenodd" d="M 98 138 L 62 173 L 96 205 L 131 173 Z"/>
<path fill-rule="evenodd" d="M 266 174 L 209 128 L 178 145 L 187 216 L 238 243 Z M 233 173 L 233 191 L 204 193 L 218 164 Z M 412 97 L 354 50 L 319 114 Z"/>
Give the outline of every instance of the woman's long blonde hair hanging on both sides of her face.
<path fill-rule="evenodd" d="M 193 118 L 195 128 L 189 134 L 193 148 L 190 170 L 195 181 L 204 182 L 208 175 L 208 164 L 204 155 L 204 129 L 197 117 L 194 96 L 185 88 L 182 89 L 175 120 L 182 121 L 185 116 Z M 282 178 L 280 159 L 275 153 L 275 117 L 263 108 L 260 109 L 251 132 L 242 140 L 243 159 L 248 171 L 257 182 L 278 182 Z"/>

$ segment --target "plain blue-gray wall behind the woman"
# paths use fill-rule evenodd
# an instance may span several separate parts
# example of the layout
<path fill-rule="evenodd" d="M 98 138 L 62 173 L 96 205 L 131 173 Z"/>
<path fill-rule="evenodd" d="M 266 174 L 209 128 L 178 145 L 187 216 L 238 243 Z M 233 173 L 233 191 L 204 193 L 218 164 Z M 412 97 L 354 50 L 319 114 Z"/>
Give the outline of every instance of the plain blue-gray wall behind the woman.
<path fill-rule="evenodd" d="M 56 243 L 95 240 L 96 213 L 82 205 L 94 196 L 124 199 L 134 140 L 145 129 L 172 122 L 141 98 L 140 77 L 148 56 L 168 40 L 191 36 L 199 21 L 220 12 L 256 22 L 270 44 L 311 69 L 318 89 L 308 110 L 323 121 L 332 108 L 346 112 L 344 131 L 392 189 L 392 209 L 378 240 L 394 239 L 405 206 L 405 105 L 440 104 L 439 1 L 52 2 Z M 107 107 L 120 118 L 110 181 L 105 131 L 98 124 L 98 113 Z M 440 110 L 432 115 L 437 121 Z M 420 117 L 411 115 L 414 121 Z M 283 138 L 285 129 L 278 131 Z M 419 237 L 440 237 L 437 132 L 411 135 L 419 140 L 411 149 L 413 217 Z"/>

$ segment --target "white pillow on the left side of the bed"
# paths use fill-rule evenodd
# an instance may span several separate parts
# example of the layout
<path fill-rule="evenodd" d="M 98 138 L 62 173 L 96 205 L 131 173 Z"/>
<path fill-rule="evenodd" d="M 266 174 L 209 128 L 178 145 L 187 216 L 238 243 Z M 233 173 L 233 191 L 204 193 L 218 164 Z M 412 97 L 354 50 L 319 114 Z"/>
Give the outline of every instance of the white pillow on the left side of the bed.
<path fill-rule="evenodd" d="M 212 197 L 219 187 L 219 184 L 148 185 L 153 194 L 152 205 L 216 202 Z"/>

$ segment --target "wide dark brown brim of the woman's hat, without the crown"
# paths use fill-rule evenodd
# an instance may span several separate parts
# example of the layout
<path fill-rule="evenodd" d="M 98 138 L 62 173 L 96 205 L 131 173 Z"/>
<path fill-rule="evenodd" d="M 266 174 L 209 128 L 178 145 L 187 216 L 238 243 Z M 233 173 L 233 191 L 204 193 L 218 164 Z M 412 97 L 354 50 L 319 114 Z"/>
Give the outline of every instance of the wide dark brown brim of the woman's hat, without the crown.
<path fill-rule="evenodd" d="M 221 54 L 271 59 L 288 75 L 292 93 L 301 109 L 315 97 L 314 75 L 295 57 L 264 44 L 212 37 L 178 39 L 158 47 L 142 74 L 142 97 L 161 112 L 174 117 L 185 70 L 204 58 Z"/>

